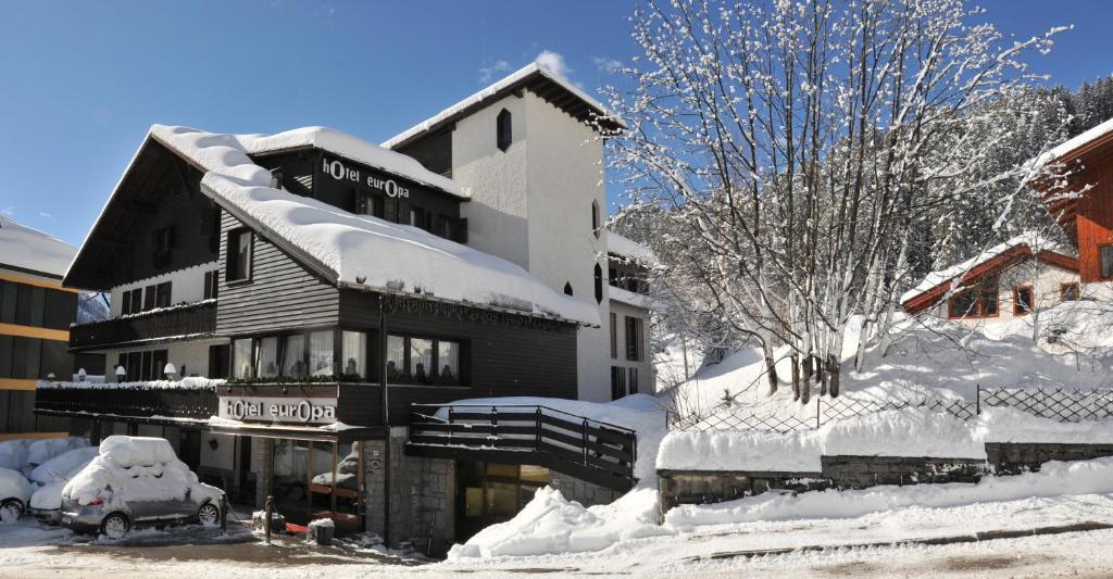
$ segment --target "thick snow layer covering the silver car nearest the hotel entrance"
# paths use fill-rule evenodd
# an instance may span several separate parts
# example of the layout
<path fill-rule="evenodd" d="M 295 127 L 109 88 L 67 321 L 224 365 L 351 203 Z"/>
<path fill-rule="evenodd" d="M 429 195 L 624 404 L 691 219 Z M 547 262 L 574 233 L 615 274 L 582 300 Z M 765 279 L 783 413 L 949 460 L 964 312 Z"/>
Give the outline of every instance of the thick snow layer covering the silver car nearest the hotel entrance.
<path fill-rule="evenodd" d="M 100 443 L 100 453 L 62 490 L 62 499 L 88 505 L 102 500 L 181 500 L 186 491 L 201 502 L 217 500 L 219 489 L 198 482 L 197 475 L 178 460 L 170 443 L 161 438 L 112 436 Z"/>

